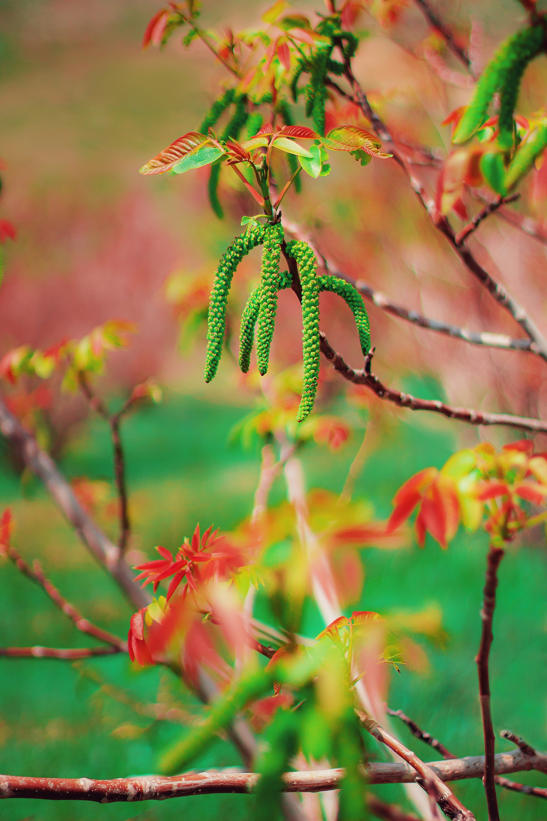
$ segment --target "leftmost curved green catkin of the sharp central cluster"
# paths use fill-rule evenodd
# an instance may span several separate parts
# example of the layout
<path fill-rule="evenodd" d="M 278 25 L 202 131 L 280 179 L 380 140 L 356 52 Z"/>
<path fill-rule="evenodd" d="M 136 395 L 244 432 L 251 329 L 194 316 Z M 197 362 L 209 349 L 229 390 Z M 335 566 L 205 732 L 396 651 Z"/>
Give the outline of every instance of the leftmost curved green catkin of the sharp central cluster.
<path fill-rule="evenodd" d="M 260 245 L 264 239 L 264 227 L 253 226 L 250 231 L 237 236 L 221 256 L 215 282 L 209 299 L 207 317 L 207 357 L 205 361 L 205 381 L 211 382 L 217 373 L 221 360 L 222 344 L 226 328 L 226 301 L 230 291 L 232 277 L 241 260 Z"/>

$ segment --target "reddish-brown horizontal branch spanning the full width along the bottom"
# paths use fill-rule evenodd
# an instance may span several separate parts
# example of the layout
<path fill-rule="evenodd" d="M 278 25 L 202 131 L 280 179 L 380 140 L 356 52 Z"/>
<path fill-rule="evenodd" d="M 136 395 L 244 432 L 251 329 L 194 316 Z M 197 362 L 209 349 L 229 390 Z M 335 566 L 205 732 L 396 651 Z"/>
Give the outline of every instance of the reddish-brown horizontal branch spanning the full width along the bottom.
<path fill-rule="evenodd" d="M 472 755 L 450 761 L 430 761 L 431 769 L 442 782 L 481 778 L 485 768 L 484 755 Z M 536 751 L 534 756 L 522 750 L 498 753 L 495 772 L 499 775 L 537 770 L 547 773 L 547 754 Z M 416 769 L 406 763 L 367 764 L 370 784 L 410 784 L 416 779 Z M 248 793 L 258 782 L 257 773 L 188 773 L 173 777 L 140 776 L 133 778 L 48 778 L 0 775 L 1 798 L 40 798 L 50 800 L 87 800 L 100 803 L 128 800 L 163 800 L 211 793 Z M 286 792 L 321 792 L 340 789 L 343 769 L 305 770 L 285 773 Z"/>

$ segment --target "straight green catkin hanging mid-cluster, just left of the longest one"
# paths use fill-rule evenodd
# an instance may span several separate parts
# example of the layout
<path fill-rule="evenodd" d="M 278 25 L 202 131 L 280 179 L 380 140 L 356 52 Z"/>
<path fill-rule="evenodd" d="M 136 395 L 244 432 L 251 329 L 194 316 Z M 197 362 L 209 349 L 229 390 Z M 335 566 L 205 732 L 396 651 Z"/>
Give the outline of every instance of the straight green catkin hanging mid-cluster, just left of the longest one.
<path fill-rule="evenodd" d="M 267 373 L 270 360 L 270 346 L 277 313 L 277 291 L 279 290 L 279 264 L 283 228 L 280 223 L 267 225 L 262 246 L 260 270 L 260 307 L 258 309 L 257 364 L 261 376 Z"/>

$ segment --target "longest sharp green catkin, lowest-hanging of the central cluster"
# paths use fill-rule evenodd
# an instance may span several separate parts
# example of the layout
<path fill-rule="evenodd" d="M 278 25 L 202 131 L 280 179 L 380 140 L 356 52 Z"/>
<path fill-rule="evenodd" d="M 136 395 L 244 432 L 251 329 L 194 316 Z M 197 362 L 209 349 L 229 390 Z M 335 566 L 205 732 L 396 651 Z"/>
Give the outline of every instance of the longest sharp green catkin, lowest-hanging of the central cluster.
<path fill-rule="evenodd" d="M 310 414 L 317 393 L 317 379 L 321 351 L 319 348 L 319 280 L 317 262 L 307 242 L 292 241 L 287 245 L 287 254 L 296 259 L 302 284 L 302 351 L 303 388 L 297 422 L 302 422 Z"/>

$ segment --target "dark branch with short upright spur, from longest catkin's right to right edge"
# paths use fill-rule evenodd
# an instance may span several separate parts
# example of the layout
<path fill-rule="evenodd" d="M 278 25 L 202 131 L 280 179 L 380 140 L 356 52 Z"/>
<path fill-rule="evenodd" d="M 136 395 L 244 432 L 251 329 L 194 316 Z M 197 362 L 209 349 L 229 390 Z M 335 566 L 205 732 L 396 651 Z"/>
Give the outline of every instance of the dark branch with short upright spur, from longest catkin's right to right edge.
<path fill-rule="evenodd" d="M 433 413 L 440 413 L 449 419 L 455 419 L 460 422 L 474 425 L 492 425 L 499 424 L 509 428 L 517 428 L 521 430 L 531 430 L 534 433 L 547 433 L 547 421 L 539 419 L 527 419 L 525 416 L 512 416 L 503 413 L 486 413 L 482 410 L 473 410 L 472 408 L 454 407 L 446 405 L 440 400 L 419 399 L 413 397 L 410 393 L 403 393 L 387 388 L 380 379 L 371 373 L 370 365 L 372 354 L 369 354 L 365 360 L 365 367 L 362 370 L 355 370 L 350 368 L 344 362 L 342 356 L 332 348 L 324 333 L 320 332 L 321 338 L 321 352 L 326 356 L 339 374 L 349 382 L 356 385 L 364 385 L 369 388 L 376 396 L 385 401 L 393 402 L 399 407 L 408 408 L 408 410 L 429 410 Z"/>

